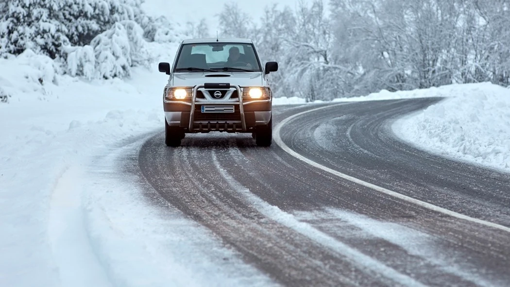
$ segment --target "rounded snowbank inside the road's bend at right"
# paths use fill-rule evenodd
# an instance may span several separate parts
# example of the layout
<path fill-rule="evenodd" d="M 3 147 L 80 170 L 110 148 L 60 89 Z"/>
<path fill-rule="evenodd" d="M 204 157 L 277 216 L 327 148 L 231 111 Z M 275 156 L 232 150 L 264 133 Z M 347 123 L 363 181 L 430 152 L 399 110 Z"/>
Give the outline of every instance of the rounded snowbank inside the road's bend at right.
<path fill-rule="evenodd" d="M 424 150 L 510 172 L 510 89 L 490 83 L 422 90 L 450 96 L 398 120 L 397 136 Z"/>

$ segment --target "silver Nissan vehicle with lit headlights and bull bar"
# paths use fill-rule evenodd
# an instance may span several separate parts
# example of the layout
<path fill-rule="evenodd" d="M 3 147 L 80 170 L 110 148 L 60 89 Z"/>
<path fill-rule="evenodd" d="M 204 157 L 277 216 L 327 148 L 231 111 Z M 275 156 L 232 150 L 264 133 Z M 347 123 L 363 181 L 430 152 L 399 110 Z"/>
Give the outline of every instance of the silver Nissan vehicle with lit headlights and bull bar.
<path fill-rule="evenodd" d="M 184 40 L 173 64 L 159 63 L 169 75 L 163 91 L 165 143 L 180 146 L 186 133 L 252 133 L 258 146 L 272 142 L 272 95 L 249 39 Z"/>

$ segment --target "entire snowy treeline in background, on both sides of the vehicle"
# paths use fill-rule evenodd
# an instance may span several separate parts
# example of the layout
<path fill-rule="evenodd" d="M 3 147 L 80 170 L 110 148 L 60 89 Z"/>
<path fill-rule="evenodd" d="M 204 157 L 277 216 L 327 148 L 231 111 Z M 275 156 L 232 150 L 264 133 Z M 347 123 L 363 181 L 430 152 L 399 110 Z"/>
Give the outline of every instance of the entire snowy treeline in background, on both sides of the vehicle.
<path fill-rule="evenodd" d="M 149 17 L 142 0 L 0 0 L 0 55 L 29 48 L 62 73 L 130 76 L 147 42 L 211 34 L 205 21 Z M 315 0 L 266 7 L 256 22 L 236 2 L 220 37 L 246 37 L 277 61 L 276 96 L 330 100 L 452 83 L 510 85 L 510 0 Z"/>

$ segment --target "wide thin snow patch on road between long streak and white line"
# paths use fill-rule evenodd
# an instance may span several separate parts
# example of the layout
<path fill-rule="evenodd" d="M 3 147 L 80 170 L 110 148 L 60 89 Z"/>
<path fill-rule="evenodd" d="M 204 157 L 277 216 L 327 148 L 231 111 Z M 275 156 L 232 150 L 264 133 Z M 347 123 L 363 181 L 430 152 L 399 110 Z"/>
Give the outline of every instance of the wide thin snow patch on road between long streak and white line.
<path fill-rule="evenodd" d="M 386 262 L 415 269 L 413 271 L 415 275 L 424 275 L 426 272 L 428 276 L 434 277 L 432 285 L 445 285 L 446 282 L 451 282 L 454 276 L 458 277 L 455 279 L 456 285 L 505 285 L 504 282 L 489 280 L 477 273 L 469 272 L 475 270 L 476 266 L 456 260 L 462 257 L 461 254 L 455 250 L 448 250 L 435 236 L 401 224 L 379 221 L 337 208 L 295 212 L 294 216 L 299 221 L 317 226 L 322 232 L 347 244 L 360 246 L 369 254 L 385 257 L 385 253 L 391 253 L 392 256 L 386 258 Z M 389 248 L 388 245 L 399 248 Z M 414 258 L 418 258 L 419 265 L 414 262 Z"/>

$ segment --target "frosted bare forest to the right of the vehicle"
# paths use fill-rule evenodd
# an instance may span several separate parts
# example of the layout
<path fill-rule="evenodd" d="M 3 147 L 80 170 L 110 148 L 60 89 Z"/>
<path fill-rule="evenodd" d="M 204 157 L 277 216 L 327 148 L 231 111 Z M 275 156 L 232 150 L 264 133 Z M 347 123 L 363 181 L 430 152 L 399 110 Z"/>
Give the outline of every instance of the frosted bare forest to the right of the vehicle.
<path fill-rule="evenodd" d="M 279 95 L 329 100 L 452 83 L 510 85 L 508 0 L 325 4 L 275 4 L 257 26 L 231 3 L 219 17 L 221 35 L 252 38 L 265 60 L 279 62 Z"/>

